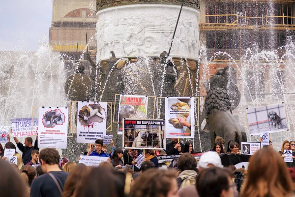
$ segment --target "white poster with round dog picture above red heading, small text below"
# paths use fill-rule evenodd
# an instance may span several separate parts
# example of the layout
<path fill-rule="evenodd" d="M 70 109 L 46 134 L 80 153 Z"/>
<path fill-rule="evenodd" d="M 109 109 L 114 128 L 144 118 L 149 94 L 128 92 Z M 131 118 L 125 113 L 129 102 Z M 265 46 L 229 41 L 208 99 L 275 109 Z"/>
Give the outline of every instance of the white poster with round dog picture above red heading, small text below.
<path fill-rule="evenodd" d="M 66 148 L 68 131 L 67 107 L 39 107 L 39 148 Z"/>

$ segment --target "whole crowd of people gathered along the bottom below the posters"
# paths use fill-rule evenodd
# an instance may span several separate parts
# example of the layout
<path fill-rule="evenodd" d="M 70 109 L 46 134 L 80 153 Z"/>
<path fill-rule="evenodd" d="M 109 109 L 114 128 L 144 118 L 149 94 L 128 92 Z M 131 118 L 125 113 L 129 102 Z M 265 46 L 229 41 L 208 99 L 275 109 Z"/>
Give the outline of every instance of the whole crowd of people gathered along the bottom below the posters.
<path fill-rule="evenodd" d="M 261 141 L 261 139 L 260 139 Z M 106 157 L 96 167 L 62 160 L 59 152 L 45 148 L 39 152 L 37 139 L 27 137 L 24 145 L 15 138 L 23 153 L 15 152 L 17 165 L 5 161 L 4 149 L 16 149 L 12 142 L 0 146 L 0 196 L 3 197 L 293 197 L 295 169 L 284 162 L 284 150 L 292 150 L 295 141 L 284 141 L 279 153 L 264 146 L 250 157 L 248 168 L 223 166 L 221 155 L 240 155 L 239 144 L 216 137 L 212 149 L 198 160 L 193 143 L 172 138 L 166 150 L 116 148 L 107 151 L 103 140 L 88 144 L 84 155 Z M 144 156 L 141 166 L 136 158 Z M 180 155 L 167 168 L 159 156 Z M 83 155 L 83 154 L 82 154 Z M 175 163 L 172 164 L 172 163 Z M 166 166 L 166 165 L 164 165 Z"/>

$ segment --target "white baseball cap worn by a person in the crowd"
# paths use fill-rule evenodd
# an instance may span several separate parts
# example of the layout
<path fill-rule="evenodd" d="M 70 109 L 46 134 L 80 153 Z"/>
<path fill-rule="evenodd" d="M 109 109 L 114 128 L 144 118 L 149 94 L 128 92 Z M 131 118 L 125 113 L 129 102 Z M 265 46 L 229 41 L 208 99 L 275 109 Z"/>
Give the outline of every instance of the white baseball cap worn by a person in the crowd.
<path fill-rule="evenodd" d="M 221 164 L 221 159 L 218 153 L 215 151 L 204 153 L 198 162 L 198 165 L 202 168 L 208 168 L 208 164 L 212 164 L 215 167 L 223 167 L 223 165 Z"/>

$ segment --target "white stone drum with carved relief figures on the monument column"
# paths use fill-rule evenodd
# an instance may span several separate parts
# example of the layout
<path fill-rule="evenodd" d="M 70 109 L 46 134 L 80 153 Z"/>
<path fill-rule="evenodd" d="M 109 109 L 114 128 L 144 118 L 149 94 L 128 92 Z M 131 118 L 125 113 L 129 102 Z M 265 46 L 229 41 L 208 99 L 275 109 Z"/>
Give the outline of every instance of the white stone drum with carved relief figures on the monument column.
<path fill-rule="evenodd" d="M 159 56 L 168 51 L 179 6 L 124 6 L 97 13 L 97 51 L 101 60 L 114 51 L 118 58 Z M 131 13 L 131 14 L 130 14 Z M 196 9 L 183 8 L 171 55 L 198 59 L 199 16 Z"/>

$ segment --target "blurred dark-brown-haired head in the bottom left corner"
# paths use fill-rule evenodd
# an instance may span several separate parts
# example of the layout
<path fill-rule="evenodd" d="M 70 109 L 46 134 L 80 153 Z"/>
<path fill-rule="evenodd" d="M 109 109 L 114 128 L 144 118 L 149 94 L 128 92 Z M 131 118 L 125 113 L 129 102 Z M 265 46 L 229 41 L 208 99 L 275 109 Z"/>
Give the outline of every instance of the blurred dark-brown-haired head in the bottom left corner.
<path fill-rule="evenodd" d="M 11 164 L 0 160 L 0 196 L 29 197 L 25 181 Z"/>

